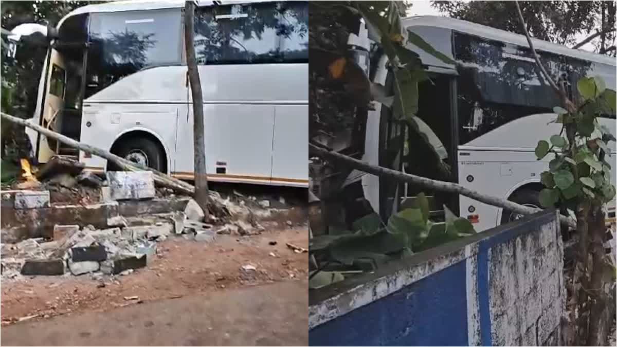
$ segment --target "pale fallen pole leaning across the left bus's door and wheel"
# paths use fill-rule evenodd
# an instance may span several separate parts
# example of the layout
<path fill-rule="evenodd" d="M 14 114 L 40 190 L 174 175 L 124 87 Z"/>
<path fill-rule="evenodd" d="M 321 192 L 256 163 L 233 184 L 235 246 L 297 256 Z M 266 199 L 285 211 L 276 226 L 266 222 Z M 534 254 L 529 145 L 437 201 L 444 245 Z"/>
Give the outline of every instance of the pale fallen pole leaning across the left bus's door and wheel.
<path fill-rule="evenodd" d="M 67 146 L 71 146 L 73 148 L 80 149 L 80 151 L 84 151 L 86 153 L 94 154 L 97 157 L 102 157 L 104 159 L 107 159 L 108 161 L 114 163 L 115 165 L 118 165 L 118 167 L 120 167 L 120 169 L 122 170 L 151 171 L 152 174 L 154 175 L 154 182 L 158 183 L 160 186 L 171 188 L 172 190 L 179 191 L 181 193 L 186 193 L 186 194 L 191 194 L 191 195 L 195 193 L 194 186 L 189 185 L 186 182 L 182 182 L 181 180 L 178 180 L 176 178 L 170 177 L 166 174 L 163 174 L 162 172 L 154 170 L 150 167 L 143 167 L 139 164 L 136 164 L 135 162 L 128 161 L 122 157 L 116 156 L 115 154 L 109 153 L 108 151 L 105 151 L 104 149 L 96 148 L 96 147 L 90 146 L 89 144 L 75 141 L 72 138 L 53 132 L 52 130 L 41 127 L 40 125 L 30 123 L 27 120 L 14 117 L 10 114 L 0 112 L 0 115 L 2 116 L 2 120 L 8 120 L 9 122 L 17 123 L 19 125 L 23 125 L 24 127 L 34 129 L 37 132 L 49 138 L 52 138 L 54 140 L 57 140 L 57 141 L 60 141 L 66 144 Z"/>

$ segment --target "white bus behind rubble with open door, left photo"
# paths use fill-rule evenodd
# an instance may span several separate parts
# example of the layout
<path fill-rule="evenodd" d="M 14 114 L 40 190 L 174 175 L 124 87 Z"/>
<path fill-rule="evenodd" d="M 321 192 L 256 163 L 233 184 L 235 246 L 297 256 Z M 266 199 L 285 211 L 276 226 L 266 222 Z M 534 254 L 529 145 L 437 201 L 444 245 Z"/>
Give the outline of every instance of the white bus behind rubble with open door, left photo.
<path fill-rule="evenodd" d="M 178 178 L 193 175 L 184 1 L 70 12 L 44 64 L 31 122 Z M 194 46 L 209 180 L 308 186 L 308 4 L 200 1 Z M 39 162 L 107 162 L 28 130 Z"/>

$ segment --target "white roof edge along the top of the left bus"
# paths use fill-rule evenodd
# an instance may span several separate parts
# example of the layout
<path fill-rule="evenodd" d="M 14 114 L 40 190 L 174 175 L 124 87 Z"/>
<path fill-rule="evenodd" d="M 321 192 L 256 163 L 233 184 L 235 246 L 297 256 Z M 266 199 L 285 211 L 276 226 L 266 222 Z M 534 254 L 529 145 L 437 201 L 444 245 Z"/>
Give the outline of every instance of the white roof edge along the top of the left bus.
<path fill-rule="evenodd" d="M 229 5 L 229 4 L 246 4 L 250 2 L 263 2 L 264 0 L 222 0 L 222 1 L 197 1 L 197 6 L 210 6 L 213 4 L 219 5 Z M 128 0 L 128 1 L 110 1 L 104 2 L 102 4 L 93 4 L 86 5 L 83 7 L 79 7 L 75 10 L 72 10 L 69 14 L 65 15 L 64 18 L 60 20 L 58 23 L 58 28 L 62 23 L 73 15 L 85 14 L 85 13 L 100 13 L 100 12 L 122 12 L 122 11 L 131 11 L 131 10 L 156 10 L 156 9 L 174 9 L 184 7 L 184 1 L 173 1 L 173 0 L 165 0 L 165 1 L 136 1 L 136 0 Z"/>

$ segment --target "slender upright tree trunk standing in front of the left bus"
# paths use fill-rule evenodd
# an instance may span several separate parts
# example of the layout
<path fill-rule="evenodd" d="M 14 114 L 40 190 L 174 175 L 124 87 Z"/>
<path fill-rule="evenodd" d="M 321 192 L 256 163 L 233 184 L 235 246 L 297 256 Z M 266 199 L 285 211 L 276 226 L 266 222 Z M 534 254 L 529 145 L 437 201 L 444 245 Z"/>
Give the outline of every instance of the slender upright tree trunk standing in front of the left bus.
<path fill-rule="evenodd" d="M 195 164 L 195 201 L 201 206 L 208 220 L 208 177 L 205 170 L 205 141 L 204 141 L 204 98 L 201 91 L 201 80 L 197 70 L 197 58 L 195 56 L 194 22 L 195 4 L 186 1 L 184 6 L 184 43 L 186 45 L 186 65 L 188 77 L 193 94 L 193 146 Z"/>

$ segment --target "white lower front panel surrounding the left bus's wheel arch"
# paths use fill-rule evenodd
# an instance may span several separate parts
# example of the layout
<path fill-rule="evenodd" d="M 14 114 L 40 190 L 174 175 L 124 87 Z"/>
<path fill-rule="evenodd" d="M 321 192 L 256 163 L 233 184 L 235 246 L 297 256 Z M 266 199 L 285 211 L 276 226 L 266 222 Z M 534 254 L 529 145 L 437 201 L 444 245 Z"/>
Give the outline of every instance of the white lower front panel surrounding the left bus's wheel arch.
<path fill-rule="evenodd" d="M 139 130 L 151 133 L 165 149 L 169 170 L 173 169 L 175 156 L 176 122 L 178 106 L 175 104 L 96 104 L 84 103 L 81 120 L 81 141 L 91 146 L 112 148 L 115 140 L 125 133 Z M 88 125 L 89 124 L 89 125 Z M 93 170 L 104 170 L 106 160 L 97 156 L 86 157 L 80 152 L 80 161 Z"/>

